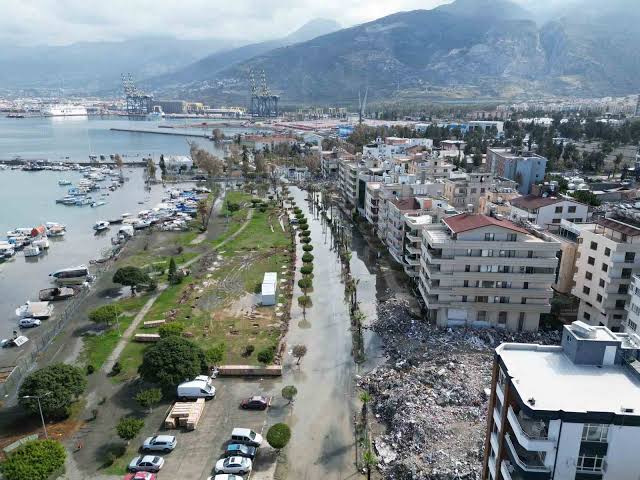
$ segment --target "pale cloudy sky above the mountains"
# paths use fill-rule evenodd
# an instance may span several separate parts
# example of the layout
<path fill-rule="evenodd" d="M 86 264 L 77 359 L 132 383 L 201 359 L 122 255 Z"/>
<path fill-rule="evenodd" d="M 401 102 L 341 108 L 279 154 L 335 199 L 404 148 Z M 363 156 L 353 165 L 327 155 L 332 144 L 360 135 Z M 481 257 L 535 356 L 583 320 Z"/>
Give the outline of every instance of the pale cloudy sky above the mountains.
<path fill-rule="evenodd" d="M 331 18 L 351 26 L 450 1 L 0 0 L 0 42 L 61 45 L 148 34 L 265 40 L 291 32 L 313 18 Z"/>

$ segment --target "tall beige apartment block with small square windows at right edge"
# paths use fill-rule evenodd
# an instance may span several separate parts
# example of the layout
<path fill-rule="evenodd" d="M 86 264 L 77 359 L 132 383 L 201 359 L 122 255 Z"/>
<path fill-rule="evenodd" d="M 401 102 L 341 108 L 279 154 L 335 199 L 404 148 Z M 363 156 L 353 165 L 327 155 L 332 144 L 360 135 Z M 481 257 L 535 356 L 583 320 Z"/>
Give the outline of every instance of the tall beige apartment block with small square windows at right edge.
<path fill-rule="evenodd" d="M 578 320 L 619 331 L 626 322 L 631 277 L 640 273 L 640 227 L 601 218 L 580 228 L 573 295 Z"/>

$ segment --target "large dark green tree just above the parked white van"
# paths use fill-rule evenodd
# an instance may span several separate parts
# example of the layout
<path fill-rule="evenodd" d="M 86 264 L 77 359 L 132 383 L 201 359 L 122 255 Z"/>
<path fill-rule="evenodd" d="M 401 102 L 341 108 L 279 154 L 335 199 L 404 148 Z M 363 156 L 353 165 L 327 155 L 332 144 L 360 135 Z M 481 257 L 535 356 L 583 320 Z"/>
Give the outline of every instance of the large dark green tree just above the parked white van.
<path fill-rule="evenodd" d="M 138 372 L 147 382 L 171 388 L 206 373 L 207 368 L 207 359 L 200 347 L 185 338 L 170 336 L 144 351 Z"/>

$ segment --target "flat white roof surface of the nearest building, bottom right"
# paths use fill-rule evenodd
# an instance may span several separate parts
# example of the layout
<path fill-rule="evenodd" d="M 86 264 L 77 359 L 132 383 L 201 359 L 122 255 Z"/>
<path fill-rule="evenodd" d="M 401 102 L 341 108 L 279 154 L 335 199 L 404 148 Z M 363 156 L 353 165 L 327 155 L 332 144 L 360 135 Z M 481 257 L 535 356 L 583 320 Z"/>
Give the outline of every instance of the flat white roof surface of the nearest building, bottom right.
<path fill-rule="evenodd" d="M 576 365 L 562 347 L 505 343 L 496 352 L 523 402 L 533 410 L 640 413 L 640 382 L 621 365 Z M 528 400 L 535 399 L 535 405 Z"/>

